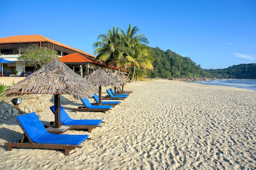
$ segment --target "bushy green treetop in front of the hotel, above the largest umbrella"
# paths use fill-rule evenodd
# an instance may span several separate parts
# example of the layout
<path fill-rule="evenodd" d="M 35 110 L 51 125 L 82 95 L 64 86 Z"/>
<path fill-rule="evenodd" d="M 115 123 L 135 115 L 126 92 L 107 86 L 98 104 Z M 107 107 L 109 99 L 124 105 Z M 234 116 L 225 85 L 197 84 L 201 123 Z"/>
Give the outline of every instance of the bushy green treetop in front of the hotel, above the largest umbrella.
<path fill-rule="evenodd" d="M 58 52 L 50 47 L 38 47 L 31 44 L 26 48 L 20 48 L 22 55 L 18 57 L 19 61 L 27 61 L 30 66 L 42 67 L 54 59 L 58 58 Z"/>

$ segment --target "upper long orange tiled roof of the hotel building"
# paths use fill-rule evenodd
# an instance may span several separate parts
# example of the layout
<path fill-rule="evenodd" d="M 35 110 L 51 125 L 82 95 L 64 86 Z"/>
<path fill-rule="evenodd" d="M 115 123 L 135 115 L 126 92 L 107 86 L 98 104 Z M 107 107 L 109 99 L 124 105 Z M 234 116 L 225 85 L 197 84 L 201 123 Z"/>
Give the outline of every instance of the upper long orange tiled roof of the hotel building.
<path fill-rule="evenodd" d="M 86 53 L 86 52 L 81 51 L 79 49 L 75 49 L 73 47 L 67 46 L 67 45 L 62 44 L 60 42 L 57 42 L 57 41 L 51 40 L 49 38 L 46 38 L 44 36 L 40 36 L 39 34 L 37 34 L 37 35 L 28 35 L 28 36 L 11 36 L 11 37 L 0 38 L 0 44 L 24 43 L 24 42 L 50 42 L 50 43 L 53 43 L 55 45 L 65 47 L 65 48 L 68 48 L 68 49 L 72 49 L 72 50 L 77 51 L 81 54 L 85 54 L 85 55 L 92 56 L 92 57 L 96 58 L 92 54 Z"/>

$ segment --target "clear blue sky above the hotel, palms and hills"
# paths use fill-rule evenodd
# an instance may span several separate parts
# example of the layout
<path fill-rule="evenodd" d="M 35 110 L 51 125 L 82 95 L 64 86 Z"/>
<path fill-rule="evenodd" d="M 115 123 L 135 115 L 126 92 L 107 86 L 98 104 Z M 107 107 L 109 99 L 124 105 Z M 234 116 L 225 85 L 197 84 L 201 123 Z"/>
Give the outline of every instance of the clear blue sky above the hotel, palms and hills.
<path fill-rule="evenodd" d="M 256 63 L 256 0 L 0 0 L 0 38 L 40 34 L 93 54 L 99 34 L 128 24 L 148 46 L 203 69 Z"/>

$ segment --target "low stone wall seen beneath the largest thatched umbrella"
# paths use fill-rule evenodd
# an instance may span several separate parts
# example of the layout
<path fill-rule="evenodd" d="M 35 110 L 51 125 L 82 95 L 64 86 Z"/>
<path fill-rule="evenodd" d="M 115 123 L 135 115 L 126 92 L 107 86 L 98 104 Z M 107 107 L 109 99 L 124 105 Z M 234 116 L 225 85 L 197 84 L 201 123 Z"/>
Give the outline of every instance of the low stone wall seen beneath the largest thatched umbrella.
<path fill-rule="evenodd" d="M 22 97 L 22 102 L 18 105 L 13 105 L 13 98 Z M 74 101 L 73 95 L 61 95 L 61 103 Z M 54 105 L 54 95 L 25 95 L 13 96 L 0 99 L 0 122 L 9 120 L 11 117 L 16 117 L 23 113 L 31 113 L 43 111 L 45 108 Z"/>

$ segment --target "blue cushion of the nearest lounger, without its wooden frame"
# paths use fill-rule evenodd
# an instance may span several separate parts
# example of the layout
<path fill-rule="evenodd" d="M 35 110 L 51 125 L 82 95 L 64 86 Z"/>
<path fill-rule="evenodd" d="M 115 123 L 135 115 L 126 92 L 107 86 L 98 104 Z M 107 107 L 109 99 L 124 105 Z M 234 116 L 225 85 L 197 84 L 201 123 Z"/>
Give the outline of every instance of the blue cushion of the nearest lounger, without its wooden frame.
<path fill-rule="evenodd" d="M 89 137 L 87 134 L 49 133 L 45 129 L 43 123 L 38 119 L 35 112 L 17 116 L 17 120 L 27 133 L 28 137 L 35 143 L 79 145 Z"/>

